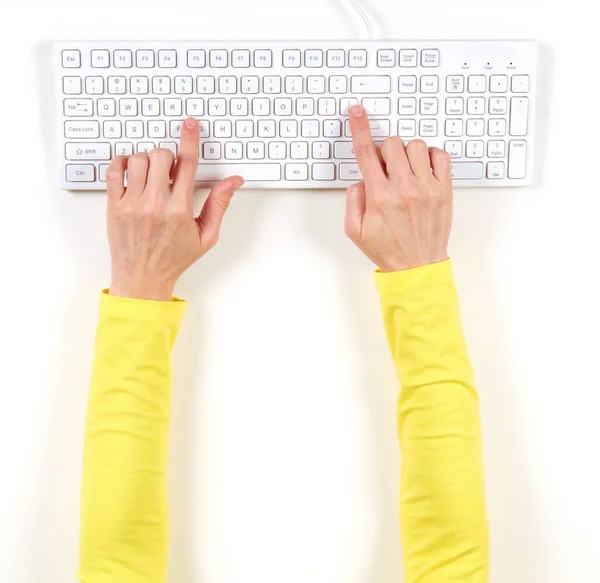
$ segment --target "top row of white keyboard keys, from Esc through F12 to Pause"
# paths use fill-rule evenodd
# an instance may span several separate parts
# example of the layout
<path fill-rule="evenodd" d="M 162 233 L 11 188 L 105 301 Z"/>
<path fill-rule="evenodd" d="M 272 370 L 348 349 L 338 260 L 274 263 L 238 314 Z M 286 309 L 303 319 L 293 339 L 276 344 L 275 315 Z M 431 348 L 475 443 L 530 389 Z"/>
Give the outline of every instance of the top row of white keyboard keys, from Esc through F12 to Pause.
<path fill-rule="evenodd" d="M 178 65 L 186 64 L 187 67 L 198 69 L 211 68 L 249 68 L 254 66 L 259 69 L 272 67 L 274 63 L 273 51 L 270 49 L 190 49 L 186 51 L 185 59 L 179 61 L 175 49 L 93 49 L 90 52 L 90 65 L 96 69 L 115 67 L 117 69 L 151 69 L 159 67 L 174 69 Z M 437 67 L 440 64 L 438 49 L 379 49 L 376 55 L 378 67 Z M 363 68 L 368 64 L 366 49 L 284 49 L 281 53 L 281 65 L 286 68 L 319 68 L 319 67 L 354 67 Z M 65 49 L 62 51 L 62 66 L 66 69 L 81 67 L 81 51 L 78 49 Z"/>

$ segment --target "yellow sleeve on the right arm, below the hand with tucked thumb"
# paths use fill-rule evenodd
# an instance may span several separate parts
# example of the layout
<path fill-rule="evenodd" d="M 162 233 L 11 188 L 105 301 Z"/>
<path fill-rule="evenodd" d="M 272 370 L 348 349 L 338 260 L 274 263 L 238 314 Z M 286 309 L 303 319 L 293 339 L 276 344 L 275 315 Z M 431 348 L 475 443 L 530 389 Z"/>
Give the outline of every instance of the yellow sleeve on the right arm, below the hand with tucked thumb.
<path fill-rule="evenodd" d="M 401 385 L 406 583 L 486 583 L 479 401 L 450 260 L 375 278 Z"/>

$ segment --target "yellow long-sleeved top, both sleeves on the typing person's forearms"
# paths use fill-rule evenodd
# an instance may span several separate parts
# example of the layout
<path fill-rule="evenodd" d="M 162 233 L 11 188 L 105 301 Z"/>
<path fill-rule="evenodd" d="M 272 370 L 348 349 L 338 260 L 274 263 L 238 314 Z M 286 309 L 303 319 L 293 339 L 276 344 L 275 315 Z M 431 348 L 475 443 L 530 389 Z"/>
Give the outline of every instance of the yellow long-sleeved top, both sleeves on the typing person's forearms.
<path fill-rule="evenodd" d="M 450 261 L 376 273 L 401 384 L 406 583 L 486 583 L 479 403 Z M 170 355 L 185 303 L 102 294 L 85 432 L 78 577 L 164 583 Z M 193 582 L 181 582 L 193 583 Z"/>

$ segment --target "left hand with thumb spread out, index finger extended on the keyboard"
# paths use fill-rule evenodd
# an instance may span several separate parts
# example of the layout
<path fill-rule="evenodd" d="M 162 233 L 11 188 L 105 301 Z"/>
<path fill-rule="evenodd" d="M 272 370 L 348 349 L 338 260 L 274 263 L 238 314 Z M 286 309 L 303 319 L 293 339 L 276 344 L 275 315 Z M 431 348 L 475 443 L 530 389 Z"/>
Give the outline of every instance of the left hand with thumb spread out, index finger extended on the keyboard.
<path fill-rule="evenodd" d="M 216 244 L 225 211 L 244 180 L 221 181 L 194 217 L 199 136 L 198 122 L 186 119 L 174 169 L 173 153 L 166 149 L 111 162 L 106 172 L 111 295 L 169 300 L 179 276 Z"/>

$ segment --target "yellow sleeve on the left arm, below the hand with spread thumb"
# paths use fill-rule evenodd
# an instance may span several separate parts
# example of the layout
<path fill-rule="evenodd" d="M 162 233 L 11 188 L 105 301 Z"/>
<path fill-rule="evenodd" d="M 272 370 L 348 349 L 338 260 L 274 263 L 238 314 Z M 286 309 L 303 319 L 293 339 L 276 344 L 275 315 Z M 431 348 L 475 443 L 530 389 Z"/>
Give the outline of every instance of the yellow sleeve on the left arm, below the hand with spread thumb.
<path fill-rule="evenodd" d="M 171 348 L 185 303 L 103 293 L 89 393 L 78 577 L 164 583 Z"/>

